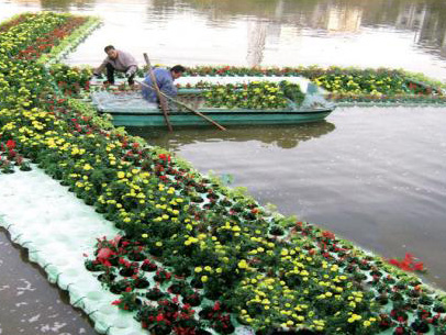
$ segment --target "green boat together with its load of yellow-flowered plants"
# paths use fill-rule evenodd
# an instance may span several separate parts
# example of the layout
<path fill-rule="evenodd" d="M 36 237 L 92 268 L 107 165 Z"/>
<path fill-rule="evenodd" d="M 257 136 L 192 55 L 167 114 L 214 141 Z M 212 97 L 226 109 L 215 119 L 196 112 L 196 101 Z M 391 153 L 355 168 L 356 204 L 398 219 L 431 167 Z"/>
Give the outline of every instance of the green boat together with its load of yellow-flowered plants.
<path fill-rule="evenodd" d="M 223 125 L 315 122 L 335 109 L 323 89 L 302 77 L 183 77 L 176 82 L 178 100 Z M 115 125 L 166 124 L 158 105 L 145 101 L 138 91 L 96 91 L 91 99 L 100 112 L 112 115 Z M 209 125 L 175 107 L 169 120 L 174 126 Z"/>

